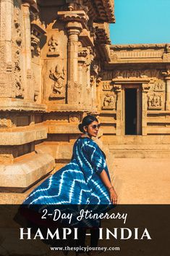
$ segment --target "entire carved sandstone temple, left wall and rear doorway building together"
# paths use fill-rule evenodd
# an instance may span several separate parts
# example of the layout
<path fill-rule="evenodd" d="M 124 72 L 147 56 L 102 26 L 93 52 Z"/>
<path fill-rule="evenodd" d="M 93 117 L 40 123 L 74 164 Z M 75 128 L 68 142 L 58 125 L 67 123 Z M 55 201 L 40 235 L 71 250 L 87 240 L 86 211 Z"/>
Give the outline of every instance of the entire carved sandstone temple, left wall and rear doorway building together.
<path fill-rule="evenodd" d="M 114 0 L 0 1 L 0 202 L 69 162 L 87 114 L 109 162 L 169 157 L 170 44 L 111 45 L 114 22 Z"/>

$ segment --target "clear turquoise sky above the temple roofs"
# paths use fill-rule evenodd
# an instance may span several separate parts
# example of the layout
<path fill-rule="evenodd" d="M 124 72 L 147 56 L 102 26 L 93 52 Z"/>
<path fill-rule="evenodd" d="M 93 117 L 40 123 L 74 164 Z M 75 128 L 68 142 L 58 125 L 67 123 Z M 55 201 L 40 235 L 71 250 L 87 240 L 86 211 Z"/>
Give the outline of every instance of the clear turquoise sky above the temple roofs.
<path fill-rule="evenodd" d="M 170 43 L 170 0 L 114 0 L 111 44 Z"/>

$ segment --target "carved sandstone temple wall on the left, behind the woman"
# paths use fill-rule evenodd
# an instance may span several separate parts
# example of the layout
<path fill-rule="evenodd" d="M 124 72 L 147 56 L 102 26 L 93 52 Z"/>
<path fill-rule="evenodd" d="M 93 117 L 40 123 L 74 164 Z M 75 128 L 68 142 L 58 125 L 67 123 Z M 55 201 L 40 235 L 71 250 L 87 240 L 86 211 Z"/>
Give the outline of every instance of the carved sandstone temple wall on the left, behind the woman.
<path fill-rule="evenodd" d="M 69 161 L 78 123 L 98 116 L 106 54 L 95 45 L 106 48 L 108 22 L 113 1 L 0 1 L 1 191 L 23 192 Z"/>

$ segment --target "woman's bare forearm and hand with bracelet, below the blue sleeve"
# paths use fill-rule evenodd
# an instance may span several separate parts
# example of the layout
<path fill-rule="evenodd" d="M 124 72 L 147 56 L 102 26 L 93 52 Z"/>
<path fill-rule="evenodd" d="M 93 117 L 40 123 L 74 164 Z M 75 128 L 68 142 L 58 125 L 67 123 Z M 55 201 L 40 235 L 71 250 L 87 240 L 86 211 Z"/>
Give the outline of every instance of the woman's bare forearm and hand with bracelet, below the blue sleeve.
<path fill-rule="evenodd" d="M 100 176 L 105 186 L 109 189 L 111 202 L 116 205 L 117 194 L 116 194 L 116 191 L 114 190 L 114 186 L 111 184 L 111 181 L 109 181 L 106 170 L 102 170 Z"/>

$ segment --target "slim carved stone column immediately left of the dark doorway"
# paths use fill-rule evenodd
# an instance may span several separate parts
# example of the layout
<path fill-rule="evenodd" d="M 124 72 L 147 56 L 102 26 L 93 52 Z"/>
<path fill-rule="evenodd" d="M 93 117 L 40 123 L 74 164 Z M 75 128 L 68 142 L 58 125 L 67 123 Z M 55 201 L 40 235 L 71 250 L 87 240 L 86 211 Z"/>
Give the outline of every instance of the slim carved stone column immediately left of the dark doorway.
<path fill-rule="evenodd" d="M 115 84 L 114 90 L 116 91 L 116 135 L 122 135 L 122 85 Z"/>

